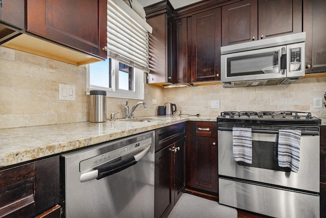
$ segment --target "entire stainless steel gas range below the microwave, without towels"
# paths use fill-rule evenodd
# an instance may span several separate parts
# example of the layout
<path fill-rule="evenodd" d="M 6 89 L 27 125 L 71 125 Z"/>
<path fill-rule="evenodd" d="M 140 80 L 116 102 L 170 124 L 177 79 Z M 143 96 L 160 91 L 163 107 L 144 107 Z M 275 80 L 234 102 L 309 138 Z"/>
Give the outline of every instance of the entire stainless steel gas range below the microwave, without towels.
<path fill-rule="evenodd" d="M 273 217 L 319 217 L 320 119 L 309 112 L 226 111 L 218 117 L 220 204 Z M 251 129 L 252 163 L 235 161 L 233 128 Z M 297 173 L 280 167 L 280 130 L 300 130 Z"/>

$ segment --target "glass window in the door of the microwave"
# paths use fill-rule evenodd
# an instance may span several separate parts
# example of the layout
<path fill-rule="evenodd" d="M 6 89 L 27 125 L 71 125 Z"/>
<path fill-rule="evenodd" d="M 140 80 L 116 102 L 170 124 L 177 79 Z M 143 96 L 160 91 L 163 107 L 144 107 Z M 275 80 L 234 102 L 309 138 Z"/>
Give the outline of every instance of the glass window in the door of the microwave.
<path fill-rule="evenodd" d="M 228 77 L 279 72 L 278 51 L 227 58 Z"/>

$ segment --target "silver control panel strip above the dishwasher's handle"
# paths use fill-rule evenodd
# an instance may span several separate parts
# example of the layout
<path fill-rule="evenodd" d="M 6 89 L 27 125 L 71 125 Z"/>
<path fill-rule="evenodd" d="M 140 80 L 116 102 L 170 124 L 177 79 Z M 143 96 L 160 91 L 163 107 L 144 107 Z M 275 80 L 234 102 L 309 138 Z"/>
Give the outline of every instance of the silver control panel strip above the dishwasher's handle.
<path fill-rule="evenodd" d="M 152 143 L 152 138 L 146 138 L 134 143 L 130 143 L 127 146 L 123 146 L 119 149 L 106 152 L 94 157 L 91 157 L 89 159 L 80 161 L 79 163 L 79 172 L 87 171 L 88 169 L 94 168 L 98 165 L 101 165 L 103 163 L 112 161 L 114 159 L 117 159 L 119 157 L 122 157 L 124 155 L 127 155 L 132 152 L 141 152 L 144 150 L 149 144 Z"/>

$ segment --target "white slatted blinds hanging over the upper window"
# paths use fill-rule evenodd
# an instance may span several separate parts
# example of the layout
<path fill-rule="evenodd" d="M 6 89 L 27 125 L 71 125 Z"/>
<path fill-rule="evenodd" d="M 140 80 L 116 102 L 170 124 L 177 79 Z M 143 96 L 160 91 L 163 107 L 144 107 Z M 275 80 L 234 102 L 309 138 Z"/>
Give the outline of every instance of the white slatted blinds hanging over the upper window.
<path fill-rule="evenodd" d="M 151 27 L 141 18 L 135 21 L 129 16 L 135 12 L 128 10 L 130 8 L 122 0 L 107 1 L 107 56 L 149 72 L 148 32 Z"/>

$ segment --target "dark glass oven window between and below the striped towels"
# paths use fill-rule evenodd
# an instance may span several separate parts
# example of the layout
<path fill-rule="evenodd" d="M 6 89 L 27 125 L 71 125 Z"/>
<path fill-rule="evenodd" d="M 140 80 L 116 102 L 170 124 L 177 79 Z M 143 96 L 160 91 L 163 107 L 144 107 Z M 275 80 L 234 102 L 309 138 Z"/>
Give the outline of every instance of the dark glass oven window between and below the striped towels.
<path fill-rule="evenodd" d="M 277 160 L 277 143 L 270 141 L 252 141 L 253 161 L 248 164 L 238 161 L 239 165 L 251 166 L 275 171 L 291 172 L 289 167 L 280 167 Z"/>

